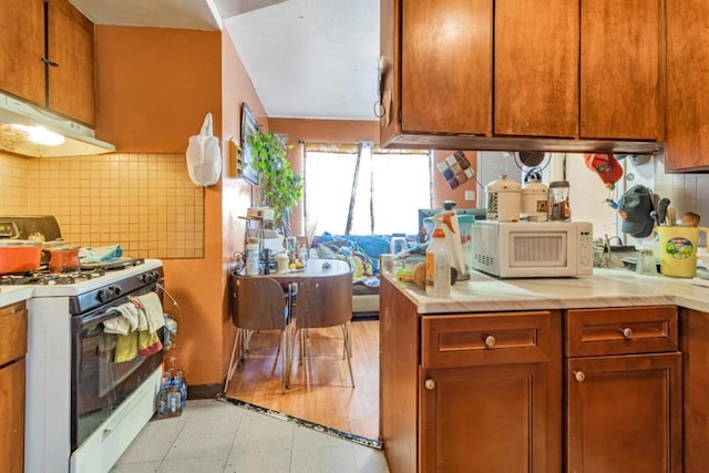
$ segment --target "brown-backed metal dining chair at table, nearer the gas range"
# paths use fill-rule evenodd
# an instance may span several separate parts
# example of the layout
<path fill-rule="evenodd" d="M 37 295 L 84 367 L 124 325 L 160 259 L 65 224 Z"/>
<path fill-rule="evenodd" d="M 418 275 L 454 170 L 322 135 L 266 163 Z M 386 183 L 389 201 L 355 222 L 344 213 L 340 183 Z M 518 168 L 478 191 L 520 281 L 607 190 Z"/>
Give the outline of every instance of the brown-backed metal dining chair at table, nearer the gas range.
<path fill-rule="evenodd" d="M 289 328 L 292 311 L 294 285 L 284 288 L 277 280 L 266 277 L 230 276 L 232 322 L 236 326 L 236 337 L 232 348 L 224 391 L 239 362 L 248 350 L 250 336 L 257 330 L 280 330 L 278 352 L 281 356 L 282 391 L 288 388 L 290 374 Z"/>

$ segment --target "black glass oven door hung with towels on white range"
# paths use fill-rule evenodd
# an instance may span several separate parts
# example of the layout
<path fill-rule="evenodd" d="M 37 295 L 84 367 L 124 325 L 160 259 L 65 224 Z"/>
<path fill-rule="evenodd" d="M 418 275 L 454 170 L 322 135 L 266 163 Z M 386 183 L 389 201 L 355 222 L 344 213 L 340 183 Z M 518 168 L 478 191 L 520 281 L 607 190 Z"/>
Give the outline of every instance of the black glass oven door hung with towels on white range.
<path fill-rule="evenodd" d="M 127 297 L 112 306 L 126 301 Z M 146 357 L 136 354 L 130 360 L 115 362 L 116 346 L 126 340 L 103 331 L 103 322 L 117 315 L 107 310 L 104 307 L 72 318 L 72 452 L 163 362 L 162 349 Z M 137 332 L 129 337 L 137 337 Z M 162 329 L 158 338 L 162 342 Z"/>

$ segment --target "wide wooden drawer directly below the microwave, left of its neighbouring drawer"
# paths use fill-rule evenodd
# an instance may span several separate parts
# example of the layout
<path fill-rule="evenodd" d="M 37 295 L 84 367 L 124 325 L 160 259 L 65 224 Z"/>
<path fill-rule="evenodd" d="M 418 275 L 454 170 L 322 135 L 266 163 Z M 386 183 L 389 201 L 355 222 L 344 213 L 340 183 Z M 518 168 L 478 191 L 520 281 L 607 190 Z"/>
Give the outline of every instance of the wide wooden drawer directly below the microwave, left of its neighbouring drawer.
<path fill-rule="evenodd" d="M 554 350 L 554 318 L 561 322 L 559 312 L 546 310 L 424 316 L 421 366 L 429 369 L 546 362 Z M 561 337 L 561 330 L 556 337 Z"/>

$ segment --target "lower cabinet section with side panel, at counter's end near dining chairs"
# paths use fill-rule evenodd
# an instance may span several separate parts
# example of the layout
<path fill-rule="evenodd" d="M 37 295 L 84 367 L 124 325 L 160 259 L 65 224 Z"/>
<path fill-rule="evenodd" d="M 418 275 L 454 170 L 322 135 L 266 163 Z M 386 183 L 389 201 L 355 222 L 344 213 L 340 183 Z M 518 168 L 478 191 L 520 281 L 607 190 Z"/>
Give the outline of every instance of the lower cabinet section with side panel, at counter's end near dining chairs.
<path fill-rule="evenodd" d="M 561 472 L 561 311 L 420 315 L 389 281 L 380 305 L 392 473 Z"/>

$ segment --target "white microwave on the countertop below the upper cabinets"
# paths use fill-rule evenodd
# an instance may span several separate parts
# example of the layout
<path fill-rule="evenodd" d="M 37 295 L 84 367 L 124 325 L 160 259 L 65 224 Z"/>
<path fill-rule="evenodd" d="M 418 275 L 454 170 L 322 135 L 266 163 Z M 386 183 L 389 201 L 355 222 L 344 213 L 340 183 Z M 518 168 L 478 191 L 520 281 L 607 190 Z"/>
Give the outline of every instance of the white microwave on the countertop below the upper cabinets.
<path fill-rule="evenodd" d="M 593 274 L 593 225 L 587 222 L 492 222 L 472 225 L 472 268 L 503 278 Z"/>

